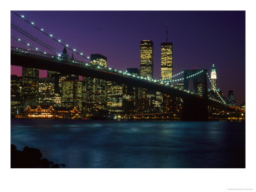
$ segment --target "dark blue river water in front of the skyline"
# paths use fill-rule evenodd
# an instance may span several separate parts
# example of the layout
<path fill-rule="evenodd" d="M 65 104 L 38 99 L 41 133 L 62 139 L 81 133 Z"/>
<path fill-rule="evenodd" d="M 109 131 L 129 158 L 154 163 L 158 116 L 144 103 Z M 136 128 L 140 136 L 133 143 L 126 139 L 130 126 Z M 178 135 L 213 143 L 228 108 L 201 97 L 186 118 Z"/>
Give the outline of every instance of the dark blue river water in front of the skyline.
<path fill-rule="evenodd" d="M 12 119 L 11 143 L 67 168 L 245 168 L 244 122 Z"/>

